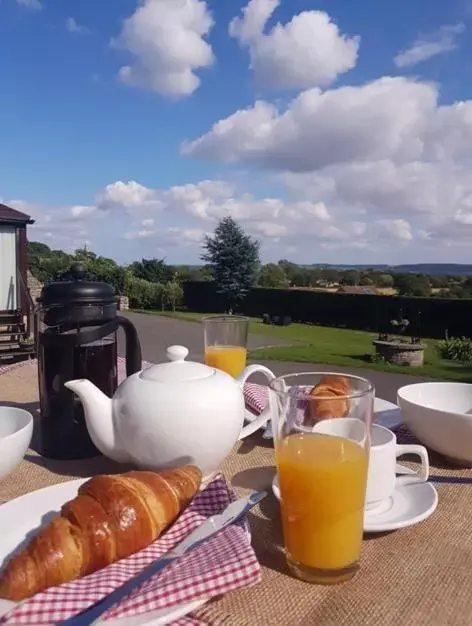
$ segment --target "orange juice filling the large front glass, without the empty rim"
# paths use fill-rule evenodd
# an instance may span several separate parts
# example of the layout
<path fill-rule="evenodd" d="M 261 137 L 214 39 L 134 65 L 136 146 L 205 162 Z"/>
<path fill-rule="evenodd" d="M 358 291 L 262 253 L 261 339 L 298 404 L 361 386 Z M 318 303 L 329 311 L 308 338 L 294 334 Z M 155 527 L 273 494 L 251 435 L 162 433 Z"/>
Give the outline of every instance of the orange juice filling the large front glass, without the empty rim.
<path fill-rule="evenodd" d="M 294 434 L 277 444 L 282 523 L 289 563 L 343 570 L 359 560 L 368 455 L 358 443 Z"/>

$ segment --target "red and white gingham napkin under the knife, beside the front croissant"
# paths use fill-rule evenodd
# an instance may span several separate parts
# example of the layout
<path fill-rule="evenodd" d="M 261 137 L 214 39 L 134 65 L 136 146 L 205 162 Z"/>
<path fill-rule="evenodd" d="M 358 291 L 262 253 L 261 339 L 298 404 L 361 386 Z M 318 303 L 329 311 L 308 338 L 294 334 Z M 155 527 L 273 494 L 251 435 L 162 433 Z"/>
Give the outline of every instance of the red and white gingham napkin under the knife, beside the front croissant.
<path fill-rule="evenodd" d="M 234 499 L 225 479 L 216 476 L 161 539 L 104 570 L 37 594 L 11 611 L 0 624 L 44 626 L 72 617 L 170 550 L 206 518 L 221 513 Z M 199 599 L 207 601 L 255 585 L 260 579 L 260 565 L 244 525 L 235 524 L 153 576 L 102 619 L 144 615 Z M 198 620 L 190 616 L 176 623 L 190 626 L 198 624 Z"/>

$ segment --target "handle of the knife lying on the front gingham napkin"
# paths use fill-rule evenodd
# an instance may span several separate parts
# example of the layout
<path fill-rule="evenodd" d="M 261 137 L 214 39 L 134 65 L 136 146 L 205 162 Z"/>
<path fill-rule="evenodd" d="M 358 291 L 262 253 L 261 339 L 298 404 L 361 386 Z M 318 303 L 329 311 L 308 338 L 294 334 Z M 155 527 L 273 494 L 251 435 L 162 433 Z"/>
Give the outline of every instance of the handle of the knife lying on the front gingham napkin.
<path fill-rule="evenodd" d="M 102 600 L 99 600 L 78 615 L 60 622 L 61 626 L 65 626 L 66 624 L 67 626 L 90 626 L 90 624 L 93 624 L 93 622 L 103 615 L 105 611 L 108 611 L 108 609 L 111 609 L 113 605 L 121 602 L 124 597 L 140 587 L 144 582 L 146 582 L 146 580 L 151 578 L 151 576 L 161 572 L 176 558 L 178 557 L 174 555 L 166 555 L 157 561 L 154 561 L 154 563 L 151 563 L 151 565 L 146 567 L 142 572 L 136 574 L 133 578 L 130 578 L 130 580 L 121 585 L 121 587 L 118 587 L 118 589 L 115 589 L 115 591 L 112 591 Z"/>

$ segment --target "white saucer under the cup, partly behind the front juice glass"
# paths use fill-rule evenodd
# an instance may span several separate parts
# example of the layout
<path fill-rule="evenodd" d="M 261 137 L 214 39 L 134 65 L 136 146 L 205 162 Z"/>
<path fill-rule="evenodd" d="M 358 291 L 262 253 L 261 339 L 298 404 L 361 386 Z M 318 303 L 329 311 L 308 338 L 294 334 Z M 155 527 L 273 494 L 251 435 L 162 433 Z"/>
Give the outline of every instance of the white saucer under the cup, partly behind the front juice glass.
<path fill-rule="evenodd" d="M 413 473 L 404 465 L 397 465 L 396 471 L 397 474 Z M 277 474 L 272 481 L 272 491 L 280 500 Z M 364 532 L 383 533 L 413 526 L 432 515 L 437 505 L 438 493 L 429 482 L 399 487 L 385 503 L 365 512 Z"/>

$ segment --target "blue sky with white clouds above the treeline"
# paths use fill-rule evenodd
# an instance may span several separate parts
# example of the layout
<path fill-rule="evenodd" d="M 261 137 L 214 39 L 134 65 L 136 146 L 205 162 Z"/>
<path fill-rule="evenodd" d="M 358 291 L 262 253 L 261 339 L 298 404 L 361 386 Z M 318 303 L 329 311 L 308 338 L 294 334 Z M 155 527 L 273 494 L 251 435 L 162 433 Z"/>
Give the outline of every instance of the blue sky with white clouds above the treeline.
<path fill-rule="evenodd" d="M 0 0 L 0 202 L 200 262 L 472 261 L 472 0 Z"/>

